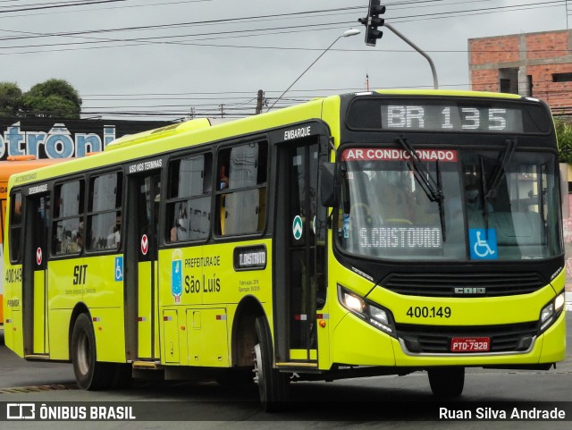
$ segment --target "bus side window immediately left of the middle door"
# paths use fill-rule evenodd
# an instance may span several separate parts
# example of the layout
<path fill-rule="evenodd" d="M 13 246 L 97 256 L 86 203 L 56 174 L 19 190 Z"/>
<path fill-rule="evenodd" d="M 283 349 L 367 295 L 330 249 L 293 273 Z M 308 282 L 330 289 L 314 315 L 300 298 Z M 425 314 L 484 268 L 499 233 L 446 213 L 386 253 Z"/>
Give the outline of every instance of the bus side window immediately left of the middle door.
<path fill-rule="evenodd" d="M 88 201 L 88 250 L 119 249 L 122 226 L 122 174 L 91 178 Z"/>

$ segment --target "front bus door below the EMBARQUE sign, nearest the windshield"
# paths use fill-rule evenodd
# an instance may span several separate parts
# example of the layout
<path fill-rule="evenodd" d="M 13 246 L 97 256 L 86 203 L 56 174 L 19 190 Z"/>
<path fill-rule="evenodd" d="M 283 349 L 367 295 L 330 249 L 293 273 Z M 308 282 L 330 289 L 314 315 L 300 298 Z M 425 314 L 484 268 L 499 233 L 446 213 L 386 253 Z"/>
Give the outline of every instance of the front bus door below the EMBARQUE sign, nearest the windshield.
<path fill-rule="evenodd" d="M 325 300 L 326 215 L 317 205 L 319 149 L 318 136 L 289 141 L 279 149 L 278 184 L 284 186 L 279 185 L 277 193 L 273 265 L 277 362 L 317 363 L 316 314 Z"/>

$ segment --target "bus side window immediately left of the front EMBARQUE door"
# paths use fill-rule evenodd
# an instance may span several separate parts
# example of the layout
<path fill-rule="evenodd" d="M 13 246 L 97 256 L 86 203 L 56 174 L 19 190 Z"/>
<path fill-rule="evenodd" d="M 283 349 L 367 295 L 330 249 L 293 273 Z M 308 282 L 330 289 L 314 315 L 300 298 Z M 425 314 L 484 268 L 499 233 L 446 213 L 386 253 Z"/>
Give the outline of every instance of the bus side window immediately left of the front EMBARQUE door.
<path fill-rule="evenodd" d="M 217 165 L 219 172 L 229 166 L 229 185 L 228 192 L 219 193 L 216 199 L 217 233 L 227 236 L 264 230 L 267 152 L 265 142 L 220 152 Z"/>

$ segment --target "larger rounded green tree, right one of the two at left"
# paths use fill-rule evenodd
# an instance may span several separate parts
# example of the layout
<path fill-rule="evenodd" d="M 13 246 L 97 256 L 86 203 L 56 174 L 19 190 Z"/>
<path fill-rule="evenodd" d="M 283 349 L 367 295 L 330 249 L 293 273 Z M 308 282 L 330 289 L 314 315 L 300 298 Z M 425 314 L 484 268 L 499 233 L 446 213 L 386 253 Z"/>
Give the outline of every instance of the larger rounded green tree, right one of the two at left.
<path fill-rule="evenodd" d="M 29 116 L 80 118 L 81 98 L 67 80 L 46 80 L 23 94 L 22 111 Z"/>

